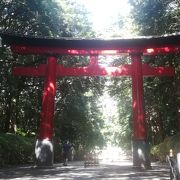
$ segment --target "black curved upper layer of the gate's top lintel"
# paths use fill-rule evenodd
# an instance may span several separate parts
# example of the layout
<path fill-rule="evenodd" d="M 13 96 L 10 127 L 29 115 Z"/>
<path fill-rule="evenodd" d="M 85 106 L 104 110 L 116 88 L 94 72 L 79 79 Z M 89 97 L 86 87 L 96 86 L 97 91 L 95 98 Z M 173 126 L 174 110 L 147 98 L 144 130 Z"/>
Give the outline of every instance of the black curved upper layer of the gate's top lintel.
<path fill-rule="evenodd" d="M 118 49 L 118 48 L 160 48 L 180 46 L 180 34 L 166 34 L 162 36 L 140 36 L 130 38 L 50 38 L 22 36 L 0 33 L 2 43 L 12 46 L 21 45 L 29 47 L 58 47 L 63 49 Z"/>

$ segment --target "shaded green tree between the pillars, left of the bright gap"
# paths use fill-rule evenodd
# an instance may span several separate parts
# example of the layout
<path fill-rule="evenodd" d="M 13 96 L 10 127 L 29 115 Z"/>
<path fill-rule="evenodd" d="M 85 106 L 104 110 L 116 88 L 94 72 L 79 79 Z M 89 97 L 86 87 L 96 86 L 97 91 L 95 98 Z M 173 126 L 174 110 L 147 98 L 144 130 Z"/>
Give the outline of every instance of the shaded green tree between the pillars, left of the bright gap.
<path fill-rule="evenodd" d="M 62 141 L 68 139 L 84 150 L 103 146 L 100 131 L 103 121 L 97 101 L 101 94 L 99 86 L 102 86 L 99 78 L 72 77 L 60 81 L 55 133 Z"/>

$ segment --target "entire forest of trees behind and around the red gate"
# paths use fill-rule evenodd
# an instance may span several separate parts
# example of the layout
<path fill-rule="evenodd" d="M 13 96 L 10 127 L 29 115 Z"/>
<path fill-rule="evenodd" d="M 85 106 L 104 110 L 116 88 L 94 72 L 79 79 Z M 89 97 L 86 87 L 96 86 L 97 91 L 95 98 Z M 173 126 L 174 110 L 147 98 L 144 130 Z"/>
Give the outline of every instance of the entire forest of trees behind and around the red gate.
<path fill-rule="evenodd" d="M 129 0 L 129 17 L 119 15 L 106 30 L 96 32 L 83 4 L 73 0 L 1 0 L 0 31 L 45 36 L 97 38 L 165 35 L 180 32 L 180 2 Z M 116 29 L 114 29 L 116 27 Z M 111 33 L 110 33 L 111 32 Z M 143 56 L 143 63 L 172 66 L 174 77 L 144 78 L 148 141 L 151 152 L 163 160 L 169 148 L 180 150 L 180 54 Z M 110 59 L 110 61 L 108 61 Z M 66 66 L 87 64 L 87 58 L 59 56 Z M 128 56 L 101 57 L 100 63 L 119 66 Z M 34 162 L 44 79 L 12 75 L 14 66 L 37 66 L 45 56 L 12 54 L 0 47 L 0 165 Z M 57 80 L 54 119 L 55 162 L 61 160 L 61 143 L 74 144 L 76 159 L 107 144 L 131 149 L 131 78 L 64 77 Z M 104 103 L 104 99 L 107 103 Z M 108 105 L 109 104 L 109 105 Z M 107 111 L 109 108 L 110 111 Z M 113 112 L 113 113 L 112 113 Z"/>

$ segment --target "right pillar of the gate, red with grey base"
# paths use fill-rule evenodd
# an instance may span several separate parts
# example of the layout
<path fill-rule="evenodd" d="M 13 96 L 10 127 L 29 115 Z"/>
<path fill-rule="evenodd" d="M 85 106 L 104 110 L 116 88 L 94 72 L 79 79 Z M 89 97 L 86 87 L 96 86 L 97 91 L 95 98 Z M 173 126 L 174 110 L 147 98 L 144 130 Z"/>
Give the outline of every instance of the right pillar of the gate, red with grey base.
<path fill-rule="evenodd" d="M 150 168 L 147 142 L 141 54 L 132 54 L 133 167 Z"/>

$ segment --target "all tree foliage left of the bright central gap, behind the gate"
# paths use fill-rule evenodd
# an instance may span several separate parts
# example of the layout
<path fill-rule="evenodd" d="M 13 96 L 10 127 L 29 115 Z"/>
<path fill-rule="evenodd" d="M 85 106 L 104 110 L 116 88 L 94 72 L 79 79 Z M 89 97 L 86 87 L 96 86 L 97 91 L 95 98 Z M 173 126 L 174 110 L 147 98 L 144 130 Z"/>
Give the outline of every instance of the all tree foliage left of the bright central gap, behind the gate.
<path fill-rule="evenodd" d="M 45 37 L 92 37 L 94 34 L 85 8 L 73 0 L 2 0 L 0 10 L 2 32 Z M 12 67 L 36 67 L 46 63 L 46 59 L 15 55 L 9 47 L 0 48 L 0 131 L 26 136 L 37 134 L 44 78 L 15 77 Z M 77 61 L 77 57 L 58 57 L 59 64 L 68 66 L 75 66 Z M 87 58 L 84 62 L 87 64 Z M 77 148 L 102 146 L 103 124 L 96 101 L 100 86 L 103 85 L 98 78 L 57 79 L 55 139 L 69 139 Z M 92 95 L 86 96 L 90 92 Z"/>

